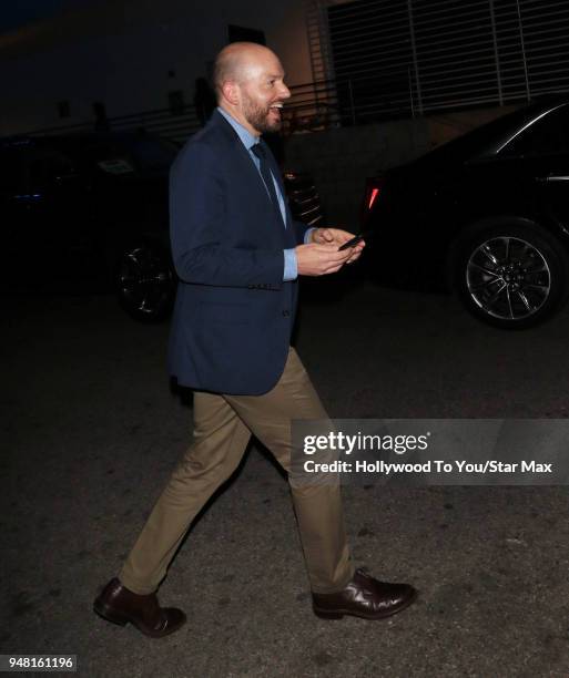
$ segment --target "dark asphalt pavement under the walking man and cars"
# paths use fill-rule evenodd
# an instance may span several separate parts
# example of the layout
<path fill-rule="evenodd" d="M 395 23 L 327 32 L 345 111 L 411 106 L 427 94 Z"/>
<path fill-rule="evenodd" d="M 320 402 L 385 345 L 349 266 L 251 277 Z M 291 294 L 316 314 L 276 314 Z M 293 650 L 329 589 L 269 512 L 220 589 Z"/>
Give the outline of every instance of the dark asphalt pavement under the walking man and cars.
<path fill-rule="evenodd" d="M 363 286 L 302 308 L 297 349 L 336 418 L 566 418 L 569 311 L 504 332 L 453 297 Z M 348 486 L 356 564 L 407 581 L 388 620 L 316 618 L 286 481 L 258 445 L 160 589 L 153 640 L 92 612 L 186 448 L 169 327 L 111 297 L 3 300 L 2 654 L 74 654 L 106 677 L 569 675 L 566 487 Z"/>

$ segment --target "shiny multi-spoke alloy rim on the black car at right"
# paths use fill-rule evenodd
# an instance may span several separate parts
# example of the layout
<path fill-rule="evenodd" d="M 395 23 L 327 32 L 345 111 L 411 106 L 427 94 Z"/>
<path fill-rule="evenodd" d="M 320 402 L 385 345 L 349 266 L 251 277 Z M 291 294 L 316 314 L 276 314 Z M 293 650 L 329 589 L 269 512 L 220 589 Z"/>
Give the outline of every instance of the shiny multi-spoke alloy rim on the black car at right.
<path fill-rule="evenodd" d="M 492 318 L 522 320 L 551 292 L 551 271 L 541 251 L 522 238 L 500 236 L 479 245 L 466 265 L 473 301 Z"/>

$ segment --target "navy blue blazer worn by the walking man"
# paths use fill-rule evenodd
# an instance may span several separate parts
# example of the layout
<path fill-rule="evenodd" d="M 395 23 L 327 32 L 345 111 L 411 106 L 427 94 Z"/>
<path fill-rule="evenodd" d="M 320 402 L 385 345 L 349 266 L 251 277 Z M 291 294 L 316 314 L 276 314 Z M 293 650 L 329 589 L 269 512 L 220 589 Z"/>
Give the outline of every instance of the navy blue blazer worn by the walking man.
<path fill-rule="evenodd" d="M 282 182 L 271 155 L 271 168 Z M 281 185 L 283 196 L 284 187 Z M 248 151 L 214 112 L 170 174 L 170 235 L 180 277 L 169 347 L 179 383 L 257 396 L 283 373 L 297 282 L 283 282 L 285 248 L 306 226 L 287 228 L 273 209 Z"/>

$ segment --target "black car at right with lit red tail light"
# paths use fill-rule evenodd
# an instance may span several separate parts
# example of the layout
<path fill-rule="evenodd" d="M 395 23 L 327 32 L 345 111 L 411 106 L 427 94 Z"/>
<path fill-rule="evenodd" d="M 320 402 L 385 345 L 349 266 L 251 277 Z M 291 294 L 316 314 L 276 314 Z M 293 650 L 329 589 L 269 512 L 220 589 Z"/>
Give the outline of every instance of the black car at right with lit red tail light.
<path fill-rule="evenodd" d="M 374 277 L 456 290 L 477 318 L 542 322 L 569 288 L 569 97 L 548 97 L 369 179 Z"/>

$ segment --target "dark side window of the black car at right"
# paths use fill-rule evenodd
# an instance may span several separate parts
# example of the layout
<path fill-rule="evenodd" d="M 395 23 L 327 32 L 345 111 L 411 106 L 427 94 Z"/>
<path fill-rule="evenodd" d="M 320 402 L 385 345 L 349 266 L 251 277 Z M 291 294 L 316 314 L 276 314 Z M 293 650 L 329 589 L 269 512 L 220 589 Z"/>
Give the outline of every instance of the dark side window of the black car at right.
<path fill-rule="evenodd" d="M 569 105 L 539 117 L 500 151 L 502 155 L 551 155 L 569 153 Z"/>

